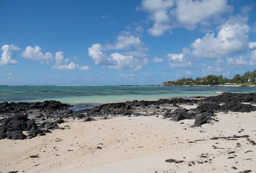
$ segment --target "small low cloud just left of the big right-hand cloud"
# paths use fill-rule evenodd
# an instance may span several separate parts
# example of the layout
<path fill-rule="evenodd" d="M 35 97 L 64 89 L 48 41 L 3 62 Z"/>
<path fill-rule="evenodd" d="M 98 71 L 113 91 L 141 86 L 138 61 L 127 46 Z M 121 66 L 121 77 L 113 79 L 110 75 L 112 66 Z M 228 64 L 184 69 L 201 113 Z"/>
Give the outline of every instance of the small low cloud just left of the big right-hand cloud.
<path fill-rule="evenodd" d="M 184 56 L 184 54 L 168 54 L 168 62 L 172 68 L 190 68 L 192 63 Z"/>

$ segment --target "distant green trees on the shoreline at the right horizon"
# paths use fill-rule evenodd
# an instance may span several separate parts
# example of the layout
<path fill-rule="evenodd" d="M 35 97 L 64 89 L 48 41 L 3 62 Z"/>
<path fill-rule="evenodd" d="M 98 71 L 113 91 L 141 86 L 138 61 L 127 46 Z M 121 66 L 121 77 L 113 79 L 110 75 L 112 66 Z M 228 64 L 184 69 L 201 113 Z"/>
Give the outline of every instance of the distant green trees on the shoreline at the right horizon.
<path fill-rule="evenodd" d="M 232 84 L 255 84 L 256 70 L 247 71 L 243 75 L 236 74 L 232 79 L 223 78 L 222 75 L 208 75 L 207 77 L 182 78 L 175 81 L 164 82 L 164 86 L 196 86 L 196 85 L 232 85 Z"/>

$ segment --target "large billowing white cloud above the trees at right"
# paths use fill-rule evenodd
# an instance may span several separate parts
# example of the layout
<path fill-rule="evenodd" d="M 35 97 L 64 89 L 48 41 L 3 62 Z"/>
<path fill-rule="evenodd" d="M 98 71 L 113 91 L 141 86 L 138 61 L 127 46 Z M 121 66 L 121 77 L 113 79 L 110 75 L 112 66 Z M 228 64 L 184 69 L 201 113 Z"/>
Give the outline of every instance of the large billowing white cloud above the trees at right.
<path fill-rule="evenodd" d="M 236 16 L 230 18 L 220 27 L 217 36 L 207 33 L 191 44 L 195 57 L 217 59 L 223 56 L 238 54 L 247 50 L 248 32 L 247 18 Z"/>

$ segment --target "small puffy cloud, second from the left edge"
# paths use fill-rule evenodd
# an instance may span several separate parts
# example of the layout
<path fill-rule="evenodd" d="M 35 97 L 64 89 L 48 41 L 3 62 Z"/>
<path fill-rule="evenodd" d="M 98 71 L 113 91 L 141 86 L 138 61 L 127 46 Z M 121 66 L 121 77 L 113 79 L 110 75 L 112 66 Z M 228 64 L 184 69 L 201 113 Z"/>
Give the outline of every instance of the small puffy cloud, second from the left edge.
<path fill-rule="evenodd" d="M 31 46 L 26 47 L 26 49 L 22 52 L 22 57 L 35 61 L 41 61 L 41 63 L 44 63 L 44 61 L 49 63 L 49 60 L 52 59 L 52 54 L 50 52 L 45 52 L 45 54 L 43 54 L 41 47 L 35 45 L 34 48 Z"/>

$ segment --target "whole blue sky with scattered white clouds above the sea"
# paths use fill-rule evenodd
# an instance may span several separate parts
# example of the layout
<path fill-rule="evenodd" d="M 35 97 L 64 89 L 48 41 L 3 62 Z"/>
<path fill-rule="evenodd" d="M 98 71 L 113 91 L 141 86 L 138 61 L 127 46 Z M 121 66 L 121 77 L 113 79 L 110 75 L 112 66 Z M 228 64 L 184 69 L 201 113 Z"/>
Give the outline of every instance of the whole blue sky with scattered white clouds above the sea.
<path fill-rule="evenodd" d="M 2 0 L 0 85 L 148 85 L 256 69 L 255 0 Z"/>

